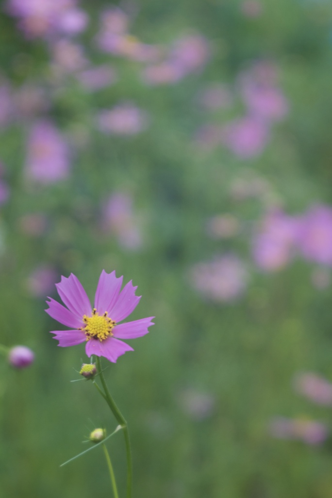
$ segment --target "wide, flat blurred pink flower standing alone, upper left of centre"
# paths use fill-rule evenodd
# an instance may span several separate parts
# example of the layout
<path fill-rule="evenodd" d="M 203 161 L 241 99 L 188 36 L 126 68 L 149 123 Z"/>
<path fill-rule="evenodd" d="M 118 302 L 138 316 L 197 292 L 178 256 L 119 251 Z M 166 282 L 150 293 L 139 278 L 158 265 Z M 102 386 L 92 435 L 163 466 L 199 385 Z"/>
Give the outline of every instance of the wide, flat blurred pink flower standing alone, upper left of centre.
<path fill-rule="evenodd" d="M 138 107 L 124 103 L 105 109 L 97 115 L 97 126 L 104 133 L 135 135 L 148 126 L 148 114 Z"/>

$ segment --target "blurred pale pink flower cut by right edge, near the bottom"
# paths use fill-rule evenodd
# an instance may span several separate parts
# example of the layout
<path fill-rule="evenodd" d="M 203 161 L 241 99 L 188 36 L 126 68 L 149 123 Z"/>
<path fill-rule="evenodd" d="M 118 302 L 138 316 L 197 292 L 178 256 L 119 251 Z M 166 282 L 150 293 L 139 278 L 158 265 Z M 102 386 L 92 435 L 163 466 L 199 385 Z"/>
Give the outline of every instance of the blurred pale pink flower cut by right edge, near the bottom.
<path fill-rule="evenodd" d="M 294 388 L 311 401 L 332 405 L 332 384 L 316 373 L 299 373 L 294 379 Z"/>

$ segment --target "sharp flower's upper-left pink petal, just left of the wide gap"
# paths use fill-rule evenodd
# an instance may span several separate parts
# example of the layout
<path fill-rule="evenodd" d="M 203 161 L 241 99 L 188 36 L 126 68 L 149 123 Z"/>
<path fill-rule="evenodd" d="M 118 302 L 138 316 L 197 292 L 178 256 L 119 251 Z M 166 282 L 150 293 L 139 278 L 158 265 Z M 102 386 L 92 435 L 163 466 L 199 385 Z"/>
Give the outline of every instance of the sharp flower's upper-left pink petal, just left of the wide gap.
<path fill-rule="evenodd" d="M 59 296 L 74 315 L 80 319 L 82 319 L 83 315 L 91 315 L 89 298 L 80 280 L 73 273 L 70 274 L 69 278 L 62 276 L 61 282 L 55 285 Z"/>

